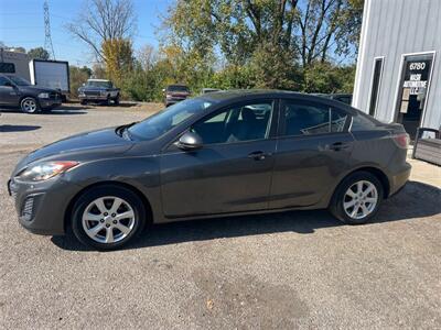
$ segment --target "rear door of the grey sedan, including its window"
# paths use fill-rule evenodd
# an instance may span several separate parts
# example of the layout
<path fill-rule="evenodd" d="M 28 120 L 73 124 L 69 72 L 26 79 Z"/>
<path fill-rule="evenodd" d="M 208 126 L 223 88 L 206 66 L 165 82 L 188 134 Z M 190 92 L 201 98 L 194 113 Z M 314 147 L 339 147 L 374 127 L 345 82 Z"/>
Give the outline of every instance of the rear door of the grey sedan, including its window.
<path fill-rule="evenodd" d="M 348 167 L 351 116 L 320 101 L 286 99 L 271 185 L 271 209 L 318 204 Z"/>

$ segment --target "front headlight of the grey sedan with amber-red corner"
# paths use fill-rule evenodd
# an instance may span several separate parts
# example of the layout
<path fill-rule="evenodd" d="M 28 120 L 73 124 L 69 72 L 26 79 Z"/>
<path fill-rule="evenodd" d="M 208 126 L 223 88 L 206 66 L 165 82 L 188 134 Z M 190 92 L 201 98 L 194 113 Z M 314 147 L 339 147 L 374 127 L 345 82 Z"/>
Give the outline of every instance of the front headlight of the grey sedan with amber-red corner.
<path fill-rule="evenodd" d="M 19 178 L 25 182 L 42 182 L 78 165 L 78 162 L 45 162 L 24 169 Z"/>

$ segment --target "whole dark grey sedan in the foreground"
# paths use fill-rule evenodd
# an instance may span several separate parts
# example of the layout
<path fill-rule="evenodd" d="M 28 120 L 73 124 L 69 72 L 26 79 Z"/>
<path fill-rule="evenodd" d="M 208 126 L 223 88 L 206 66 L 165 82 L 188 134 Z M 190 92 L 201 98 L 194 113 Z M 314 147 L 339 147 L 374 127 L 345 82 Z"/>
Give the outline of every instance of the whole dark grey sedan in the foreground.
<path fill-rule="evenodd" d="M 34 151 L 8 188 L 24 228 L 72 226 L 99 250 L 195 218 L 329 208 L 359 224 L 409 178 L 408 142 L 402 125 L 334 100 L 224 91 Z"/>

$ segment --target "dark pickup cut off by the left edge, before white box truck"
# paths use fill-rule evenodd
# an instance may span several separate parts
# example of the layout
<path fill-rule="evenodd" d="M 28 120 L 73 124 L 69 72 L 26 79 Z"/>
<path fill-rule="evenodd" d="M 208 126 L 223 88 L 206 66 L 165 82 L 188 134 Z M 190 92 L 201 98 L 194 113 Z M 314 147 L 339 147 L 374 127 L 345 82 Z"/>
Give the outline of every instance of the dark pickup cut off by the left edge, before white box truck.
<path fill-rule="evenodd" d="M 0 74 L 0 105 L 18 107 L 24 113 L 51 111 L 61 106 L 60 91 L 31 85 L 28 80 Z"/>

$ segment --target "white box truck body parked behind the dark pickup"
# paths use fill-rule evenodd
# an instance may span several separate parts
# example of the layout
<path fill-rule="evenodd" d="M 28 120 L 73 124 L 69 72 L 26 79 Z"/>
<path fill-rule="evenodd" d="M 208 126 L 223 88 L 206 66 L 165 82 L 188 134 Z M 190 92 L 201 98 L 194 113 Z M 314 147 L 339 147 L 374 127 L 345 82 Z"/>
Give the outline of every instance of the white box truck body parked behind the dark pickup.
<path fill-rule="evenodd" d="M 31 59 L 29 72 L 32 85 L 57 89 L 64 100 L 71 92 L 68 62 Z"/>

